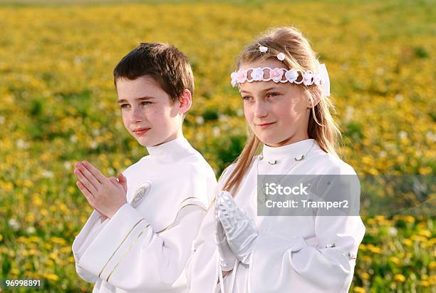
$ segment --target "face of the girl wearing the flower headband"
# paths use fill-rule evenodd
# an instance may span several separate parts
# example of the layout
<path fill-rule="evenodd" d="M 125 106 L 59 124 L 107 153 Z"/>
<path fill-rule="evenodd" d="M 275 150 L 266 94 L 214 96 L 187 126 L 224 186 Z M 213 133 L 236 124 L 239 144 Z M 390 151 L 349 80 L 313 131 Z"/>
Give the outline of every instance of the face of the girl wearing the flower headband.
<path fill-rule="evenodd" d="M 286 68 L 279 60 L 256 61 L 241 68 Z M 239 84 L 244 114 L 253 133 L 262 143 L 279 147 L 308 139 L 310 103 L 303 86 L 294 83 L 254 81 Z"/>

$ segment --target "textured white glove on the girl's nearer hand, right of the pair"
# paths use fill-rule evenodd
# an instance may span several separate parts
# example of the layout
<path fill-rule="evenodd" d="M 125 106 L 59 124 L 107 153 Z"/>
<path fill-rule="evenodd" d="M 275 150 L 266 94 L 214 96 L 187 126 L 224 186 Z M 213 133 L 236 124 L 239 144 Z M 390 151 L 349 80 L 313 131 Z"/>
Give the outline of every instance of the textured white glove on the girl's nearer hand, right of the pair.
<path fill-rule="evenodd" d="M 216 200 L 219 221 L 224 228 L 229 247 L 237 259 L 244 264 L 249 264 L 254 240 L 257 237 L 254 220 L 237 206 L 229 192 L 220 192 Z"/>

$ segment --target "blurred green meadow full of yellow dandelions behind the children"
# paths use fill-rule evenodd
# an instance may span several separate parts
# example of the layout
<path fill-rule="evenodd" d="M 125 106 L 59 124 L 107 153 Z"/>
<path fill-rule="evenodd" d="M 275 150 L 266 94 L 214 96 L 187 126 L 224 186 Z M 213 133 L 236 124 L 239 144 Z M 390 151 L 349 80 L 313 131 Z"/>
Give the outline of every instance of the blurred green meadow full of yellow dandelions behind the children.
<path fill-rule="evenodd" d="M 112 79 L 140 41 L 190 57 L 185 136 L 217 175 L 246 138 L 234 57 L 284 24 L 326 63 L 341 153 L 358 174 L 435 174 L 435 1 L 127 2 L 0 1 L 0 279 L 92 291 L 71 252 L 91 212 L 73 165 L 116 175 L 146 154 L 123 128 Z M 351 292 L 436 292 L 435 217 L 363 220 Z"/>

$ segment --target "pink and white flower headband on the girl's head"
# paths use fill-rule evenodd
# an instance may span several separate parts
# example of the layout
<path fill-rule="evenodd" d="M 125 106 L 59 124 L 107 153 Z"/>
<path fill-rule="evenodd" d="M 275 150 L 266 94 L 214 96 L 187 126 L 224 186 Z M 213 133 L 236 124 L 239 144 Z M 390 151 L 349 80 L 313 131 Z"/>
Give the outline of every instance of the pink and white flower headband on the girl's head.
<path fill-rule="evenodd" d="M 265 46 L 260 46 L 259 51 L 261 53 L 265 53 L 268 51 L 268 48 Z M 284 61 L 285 54 L 278 53 L 277 59 L 279 61 Z M 265 73 L 267 74 L 265 76 Z M 251 78 L 249 78 L 251 76 Z M 301 78 L 299 78 L 301 76 Z M 274 81 L 275 83 L 303 83 L 304 86 L 311 86 L 315 84 L 316 86 L 320 86 L 323 91 L 323 96 L 330 96 L 330 79 L 328 78 L 328 72 L 326 68 L 326 64 L 320 64 L 317 73 L 313 73 L 312 71 L 299 71 L 296 69 L 286 68 L 269 68 L 269 67 L 258 67 L 258 68 L 248 68 L 242 69 L 239 68 L 239 71 L 234 71 L 230 75 L 232 78 L 232 86 L 238 86 L 239 83 L 253 81 Z"/>

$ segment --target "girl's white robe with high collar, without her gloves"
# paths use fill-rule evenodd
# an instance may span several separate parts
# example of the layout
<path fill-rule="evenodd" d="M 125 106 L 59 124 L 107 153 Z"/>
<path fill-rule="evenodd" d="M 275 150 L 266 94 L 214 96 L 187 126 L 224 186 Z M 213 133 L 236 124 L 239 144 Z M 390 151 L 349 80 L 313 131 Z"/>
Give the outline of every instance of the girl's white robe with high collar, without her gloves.
<path fill-rule="evenodd" d="M 233 292 L 238 293 L 348 292 L 355 267 L 353 258 L 365 234 L 359 216 L 256 216 L 258 163 L 261 175 L 355 175 L 350 165 L 323 152 L 313 141 L 302 140 L 280 148 L 264 145 L 263 160 L 256 156 L 251 162 L 235 201 L 254 218 L 258 237 L 249 265 L 236 262 L 233 271 L 224 277 L 225 293 L 230 292 L 232 282 Z M 305 155 L 312 145 L 305 160 L 294 160 Z M 277 160 L 275 165 L 268 163 L 273 160 Z M 221 190 L 232 170 L 234 165 L 224 171 L 217 190 Z M 194 253 L 187 265 L 192 293 L 221 291 L 217 284 L 220 268 L 214 225 L 212 207 L 194 240 Z"/>

